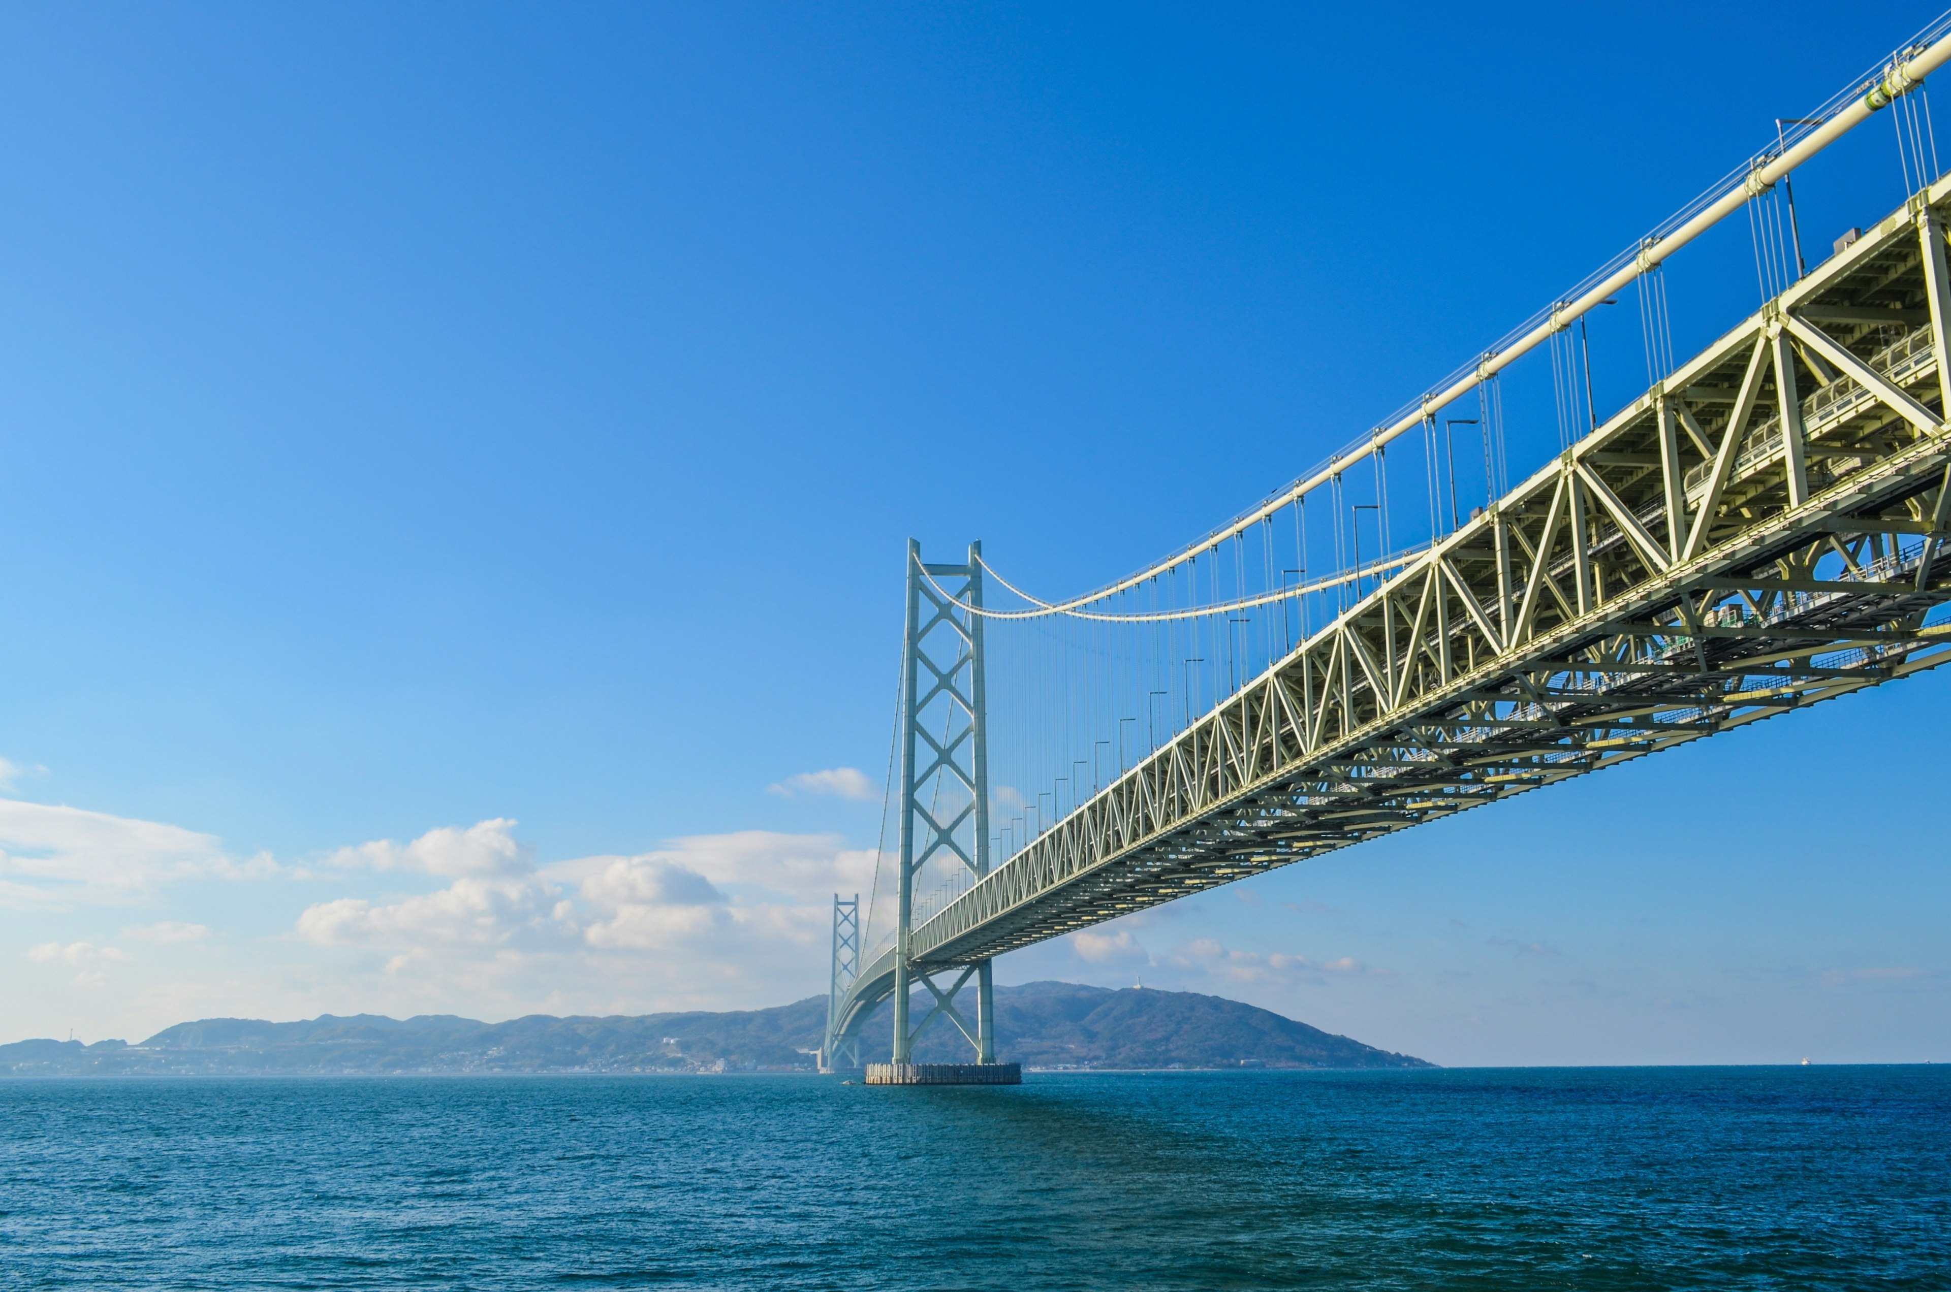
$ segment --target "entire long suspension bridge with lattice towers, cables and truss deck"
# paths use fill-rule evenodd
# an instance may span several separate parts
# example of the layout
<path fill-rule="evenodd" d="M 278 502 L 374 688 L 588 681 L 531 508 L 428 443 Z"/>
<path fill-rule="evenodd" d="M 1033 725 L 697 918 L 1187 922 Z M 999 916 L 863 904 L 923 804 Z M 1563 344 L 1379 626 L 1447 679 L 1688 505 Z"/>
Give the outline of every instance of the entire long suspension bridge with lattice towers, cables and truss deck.
<path fill-rule="evenodd" d="M 1040 601 L 981 545 L 909 545 L 882 868 L 866 913 L 835 898 L 821 1068 L 860 1068 L 892 997 L 870 1081 L 1015 1079 L 997 954 L 1951 658 L 1951 180 L 1922 92 L 1947 57 L 1939 20 L 1145 570 Z M 1791 174 L 1885 111 L 1908 199 L 1811 265 Z M 1762 304 L 1674 363 L 1664 263 L 1742 211 Z M 1600 420 L 1584 316 L 1627 287 L 1649 386 Z M 1502 375 L 1533 351 L 1559 451 L 1510 484 Z M 936 1021 L 970 1064 L 913 1062 Z"/>

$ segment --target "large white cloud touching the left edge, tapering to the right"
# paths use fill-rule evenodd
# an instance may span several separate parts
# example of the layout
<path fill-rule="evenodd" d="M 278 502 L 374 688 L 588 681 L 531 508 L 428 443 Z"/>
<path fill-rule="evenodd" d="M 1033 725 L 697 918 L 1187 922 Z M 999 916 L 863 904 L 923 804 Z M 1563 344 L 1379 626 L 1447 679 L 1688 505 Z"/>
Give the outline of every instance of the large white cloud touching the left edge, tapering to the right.
<path fill-rule="evenodd" d="M 0 798 L 0 904 L 133 902 L 191 878 L 275 872 L 267 855 L 232 861 L 215 835 L 105 812 Z"/>

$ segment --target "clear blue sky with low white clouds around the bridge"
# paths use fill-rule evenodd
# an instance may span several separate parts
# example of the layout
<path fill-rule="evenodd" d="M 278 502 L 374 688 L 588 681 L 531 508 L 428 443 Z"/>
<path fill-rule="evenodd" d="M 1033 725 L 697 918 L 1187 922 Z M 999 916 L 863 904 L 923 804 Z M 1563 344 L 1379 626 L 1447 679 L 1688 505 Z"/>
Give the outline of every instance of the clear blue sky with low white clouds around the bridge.
<path fill-rule="evenodd" d="M 0 14 L 0 1040 L 823 989 L 880 804 L 790 779 L 880 783 L 909 535 L 1065 591 L 1204 533 L 1930 16 Z M 1797 176 L 1820 248 L 1902 195 L 1881 119 Z M 1680 353 L 1746 240 L 1668 267 Z M 1947 687 L 999 974 L 1438 1062 L 1951 1060 Z"/>

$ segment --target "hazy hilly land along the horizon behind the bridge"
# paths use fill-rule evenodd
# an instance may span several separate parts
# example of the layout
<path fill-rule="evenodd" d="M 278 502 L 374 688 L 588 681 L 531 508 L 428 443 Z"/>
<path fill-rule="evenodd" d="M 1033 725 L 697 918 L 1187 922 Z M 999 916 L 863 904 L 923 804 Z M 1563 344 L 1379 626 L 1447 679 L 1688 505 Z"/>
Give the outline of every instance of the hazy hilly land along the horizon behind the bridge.
<path fill-rule="evenodd" d="M 921 1001 L 915 1003 L 917 1017 Z M 21 1040 L 0 1075 L 386 1075 L 540 1071 L 806 1071 L 827 1001 L 775 1009 L 478 1023 L 455 1015 L 322 1015 L 300 1023 L 201 1019 L 131 1046 Z M 890 1011 L 866 1023 L 862 1052 L 886 1054 Z M 997 1050 L 1026 1068 L 1428 1068 L 1268 1009 L 1196 991 L 1032 982 L 995 989 Z M 966 1062 L 938 1019 L 919 1062 Z"/>

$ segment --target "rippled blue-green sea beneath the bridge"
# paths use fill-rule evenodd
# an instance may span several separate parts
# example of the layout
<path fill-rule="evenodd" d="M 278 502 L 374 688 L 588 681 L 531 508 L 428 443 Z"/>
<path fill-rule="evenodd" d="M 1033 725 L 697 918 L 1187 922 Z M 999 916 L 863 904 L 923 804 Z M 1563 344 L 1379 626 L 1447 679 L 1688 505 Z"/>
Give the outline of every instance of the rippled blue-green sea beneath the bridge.
<path fill-rule="evenodd" d="M 4 1288 L 1951 1288 L 1951 1068 L 0 1081 Z"/>

